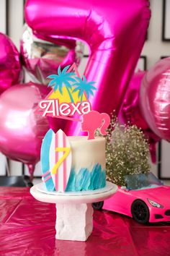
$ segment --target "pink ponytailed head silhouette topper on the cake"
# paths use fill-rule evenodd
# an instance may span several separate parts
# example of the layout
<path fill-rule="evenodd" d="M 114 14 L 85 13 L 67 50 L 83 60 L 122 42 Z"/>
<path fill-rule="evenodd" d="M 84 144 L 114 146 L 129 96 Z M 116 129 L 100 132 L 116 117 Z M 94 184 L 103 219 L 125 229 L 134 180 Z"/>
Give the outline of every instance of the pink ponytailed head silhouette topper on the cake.
<path fill-rule="evenodd" d="M 102 135 L 107 135 L 106 129 L 109 127 L 110 117 L 106 113 L 99 113 L 98 111 L 89 111 L 82 116 L 81 130 L 88 132 L 88 140 L 94 139 L 94 133 L 99 128 Z"/>

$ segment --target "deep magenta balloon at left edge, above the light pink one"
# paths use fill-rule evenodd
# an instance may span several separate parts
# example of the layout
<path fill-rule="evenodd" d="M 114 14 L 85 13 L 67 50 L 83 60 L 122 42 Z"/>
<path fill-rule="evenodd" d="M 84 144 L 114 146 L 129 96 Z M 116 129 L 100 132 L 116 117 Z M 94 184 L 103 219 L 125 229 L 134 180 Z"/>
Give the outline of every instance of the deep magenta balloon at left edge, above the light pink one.
<path fill-rule="evenodd" d="M 19 52 L 12 40 L 0 33 L 0 94 L 22 79 Z"/>

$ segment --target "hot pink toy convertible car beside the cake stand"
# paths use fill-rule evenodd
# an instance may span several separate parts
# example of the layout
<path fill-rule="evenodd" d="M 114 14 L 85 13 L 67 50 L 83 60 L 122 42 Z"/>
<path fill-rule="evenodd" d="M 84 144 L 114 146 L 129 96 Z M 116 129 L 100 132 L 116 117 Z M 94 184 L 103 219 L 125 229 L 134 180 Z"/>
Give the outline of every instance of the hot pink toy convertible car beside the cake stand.
<path fill-rule="evenodd" d="M 95 202 L 94 209 L 112 210 L 133 217 L 138 223 L 170 221 L 170 187 L 152 173 L 125 176 L 127 187 L 104 202 Z"/>

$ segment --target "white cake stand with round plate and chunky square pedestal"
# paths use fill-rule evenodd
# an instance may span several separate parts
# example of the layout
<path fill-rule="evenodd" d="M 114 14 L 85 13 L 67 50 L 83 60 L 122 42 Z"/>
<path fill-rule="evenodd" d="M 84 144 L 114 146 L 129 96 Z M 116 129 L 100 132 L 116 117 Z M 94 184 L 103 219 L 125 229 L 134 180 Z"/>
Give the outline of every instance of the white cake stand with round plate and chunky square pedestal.
<path fill-rule="evenodd" d="M 107 182 L 103 189 L 84 192 L 48 192 L 43 184 L 30 189 L 36 200 L 56 204 L 56 239 L 86 241 L 93 229 L 92 202 L 103 201 L 117 192 L 117 186 Z"/>

